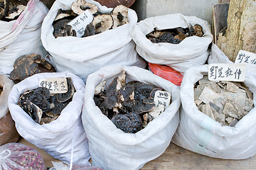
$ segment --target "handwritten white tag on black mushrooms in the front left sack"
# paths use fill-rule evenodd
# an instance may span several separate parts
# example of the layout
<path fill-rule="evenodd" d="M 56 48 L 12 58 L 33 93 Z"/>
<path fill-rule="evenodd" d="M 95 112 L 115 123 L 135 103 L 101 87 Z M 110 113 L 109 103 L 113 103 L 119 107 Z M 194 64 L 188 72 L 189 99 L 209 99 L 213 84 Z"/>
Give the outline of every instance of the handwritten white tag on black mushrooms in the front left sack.
<path fill-rule="evenodd" d="M 68 91 L 66 78 L 39 79 L 39 87 L 46 87 L 50 94 L 65 94 Z"/>

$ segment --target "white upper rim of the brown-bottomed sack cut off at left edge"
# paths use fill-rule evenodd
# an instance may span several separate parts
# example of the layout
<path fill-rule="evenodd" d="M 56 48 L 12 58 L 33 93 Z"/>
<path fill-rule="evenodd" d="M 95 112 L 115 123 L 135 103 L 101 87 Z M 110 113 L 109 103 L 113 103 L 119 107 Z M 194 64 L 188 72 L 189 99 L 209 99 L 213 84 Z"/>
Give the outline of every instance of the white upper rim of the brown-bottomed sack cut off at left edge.
<path fill-rule="evenodd" d="M 14 81 L 11 81 L 4 74 L 0 74 L 0 86 L 3 87 L 3 91 L 0 94 L 0 119 L 3 118 L 8 112 L 8 96 L 11 92 L 11 88 L 14 86 Z M 0 133 L 1 135 L 1 133 Z"/>

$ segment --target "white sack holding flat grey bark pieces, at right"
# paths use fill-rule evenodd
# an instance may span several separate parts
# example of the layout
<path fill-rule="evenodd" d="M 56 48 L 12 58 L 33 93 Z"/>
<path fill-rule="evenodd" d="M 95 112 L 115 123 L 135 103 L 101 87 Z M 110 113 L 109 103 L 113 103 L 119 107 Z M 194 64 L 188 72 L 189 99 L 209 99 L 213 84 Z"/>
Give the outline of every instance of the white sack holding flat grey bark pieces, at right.
<path fill-rule="evenodd" d="M 253 108 L 235 127 L 221 126 L 198 110 L 193 84 L 208 74 L 208 65 L 188 69 L 181 83 L 181 120 L 173 142 L 185 149 L 222 159 L 247 159 L 256 153 L 256 110 Z M 255 77 L 246 77 L 245 85 L 256 92 Z M 255 96 L 253 103 L 255 104 Z"/>

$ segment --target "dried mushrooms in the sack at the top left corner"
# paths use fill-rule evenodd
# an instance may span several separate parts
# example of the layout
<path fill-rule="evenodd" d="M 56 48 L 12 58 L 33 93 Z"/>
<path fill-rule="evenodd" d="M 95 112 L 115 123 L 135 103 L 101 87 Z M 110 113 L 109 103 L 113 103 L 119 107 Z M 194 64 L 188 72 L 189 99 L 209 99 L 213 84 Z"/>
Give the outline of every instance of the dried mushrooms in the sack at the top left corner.
<path fill-rule="evenodd" d="M 0 20 L 13 21 L 24 11 L 29 0 L 0 0 Z"/>

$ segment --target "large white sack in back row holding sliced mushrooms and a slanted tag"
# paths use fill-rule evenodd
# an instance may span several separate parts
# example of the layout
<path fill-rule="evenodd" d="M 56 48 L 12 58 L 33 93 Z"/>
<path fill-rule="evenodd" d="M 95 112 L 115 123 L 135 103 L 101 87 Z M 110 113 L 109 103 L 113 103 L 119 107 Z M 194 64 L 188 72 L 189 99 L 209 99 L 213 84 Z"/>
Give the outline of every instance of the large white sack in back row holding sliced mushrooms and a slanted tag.
<path fill-rule="evenodd" d="M 58 72 L 68 70 L 86 81 L 89 74 L 107 65 L 145 67 L 144 60 L 137 55 L 135 44 L 130 37 L 130 32 L 137 23 L 137 14 L 132 9 L 128 10 L 129 23 L 118 28 L 86 38 L 73 36 L 54 38 L 52 24 L 58 10 L 70 9 L 73 1 L 76 0 L 55 1 L 43 21 L 41 35 L 43 47 L 52 56 L 51 60 Z M 101 6 L 98 2 L 87 1 L 96 4 L 102 13 L 112 11 L 112 8 Z"/>

